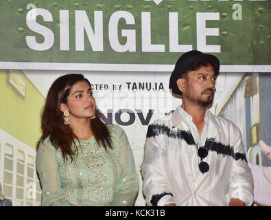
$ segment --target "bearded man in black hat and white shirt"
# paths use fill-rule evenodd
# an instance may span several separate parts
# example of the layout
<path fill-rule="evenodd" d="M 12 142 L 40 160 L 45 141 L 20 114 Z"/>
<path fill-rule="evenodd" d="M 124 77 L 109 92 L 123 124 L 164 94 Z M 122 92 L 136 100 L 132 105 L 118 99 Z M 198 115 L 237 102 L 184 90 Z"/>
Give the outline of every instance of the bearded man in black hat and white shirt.
<path fill-rule="evenodd" d="M 215 56 L 199 51 L 178 59 L 169 89 L 182 95 L 182 105 L 148 127 L 141 164 L 148 206 L 252 205 L 241 133 L 207 109 L 219 68 Z"/>

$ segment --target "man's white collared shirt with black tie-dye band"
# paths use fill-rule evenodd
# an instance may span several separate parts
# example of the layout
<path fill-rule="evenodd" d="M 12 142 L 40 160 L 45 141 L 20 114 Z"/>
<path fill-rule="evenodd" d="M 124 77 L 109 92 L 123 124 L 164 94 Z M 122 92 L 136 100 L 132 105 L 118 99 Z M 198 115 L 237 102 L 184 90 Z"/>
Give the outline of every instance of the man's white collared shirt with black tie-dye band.
<path fill-rule="evenodd" d="M 253 179 L 241 132 L 209 110 L 204 122 L 200 137 L 191 115 L 178 107 L 150 124 L 141 164 L 148 206 L 227 206 L 231 198 L 252 204 Z M 204 174 L 198 168 L 200 146 L 208 150 Z"/>

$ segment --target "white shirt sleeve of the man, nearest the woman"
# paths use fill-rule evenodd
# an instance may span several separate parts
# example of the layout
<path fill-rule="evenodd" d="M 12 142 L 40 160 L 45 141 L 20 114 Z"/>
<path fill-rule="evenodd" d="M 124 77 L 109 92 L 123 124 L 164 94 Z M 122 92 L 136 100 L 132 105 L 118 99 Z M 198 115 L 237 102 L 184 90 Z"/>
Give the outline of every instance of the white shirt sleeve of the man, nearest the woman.
<path fill-rule="evenodd" d="M 175 203 L 172 184 L 167 177 L 167 135 L 152 124 L 148 127 L 141 164 L 143 193 L 148 206 Z"/>

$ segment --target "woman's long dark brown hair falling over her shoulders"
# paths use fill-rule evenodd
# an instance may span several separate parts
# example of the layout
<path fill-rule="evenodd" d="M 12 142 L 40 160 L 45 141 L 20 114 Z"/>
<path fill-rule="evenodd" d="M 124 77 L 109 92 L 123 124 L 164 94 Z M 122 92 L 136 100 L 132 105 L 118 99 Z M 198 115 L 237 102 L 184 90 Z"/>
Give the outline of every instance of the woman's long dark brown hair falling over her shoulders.
<path fill-rule="evenodd" d="M 75 144 L 76 151 L 73 151 L 71 148 L 72 144 L 75 143 L 74 139 L 78 140 L 78 137 L 73 133 L 69 125 L 64 124 L 60 104 L 67 103 L 67 97 L 71 92 L 71 87 L 79 81 L 85 81 L 91 86 L 89 80 L 84 78 L 81 74 L 68 74 L 57 78 L 48 91 L 42 114 L 42 135 L 40 140 L 38 140 L 37 149 L 40 142 L 43 142 L 45 138 L 49 137 L 51 144 L 53 144 L 55 148 L 60 148 L 62 151 L 64 162 L 67 161 L 68 157 L 70 157 L 72 161 L 73 157 L 78 153 Z M 91 129 L 97 144 L 99 144 L 100 141 L 104 148 L 113 148 L 108 128 L 100 119 L 100 113 L 97 109 L 95 116 L 96 118 L 91 119 Z"/>

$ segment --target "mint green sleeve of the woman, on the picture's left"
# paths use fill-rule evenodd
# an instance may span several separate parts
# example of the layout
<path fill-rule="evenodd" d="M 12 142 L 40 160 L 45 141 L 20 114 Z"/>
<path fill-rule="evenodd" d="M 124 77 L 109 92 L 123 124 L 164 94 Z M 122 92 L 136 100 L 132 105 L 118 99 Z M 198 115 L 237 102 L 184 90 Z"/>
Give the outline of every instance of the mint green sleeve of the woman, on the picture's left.
<path fill-rule="evenodd" d="M 53 149 L 46 142 L 40 142 L 36 154 L 36 169 L 43 188 L 42 206 L 75 206 L 64 196 L 64 191 L 60 187 L 58 162 Z"/>

